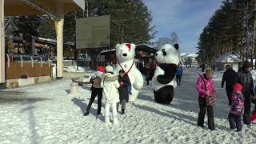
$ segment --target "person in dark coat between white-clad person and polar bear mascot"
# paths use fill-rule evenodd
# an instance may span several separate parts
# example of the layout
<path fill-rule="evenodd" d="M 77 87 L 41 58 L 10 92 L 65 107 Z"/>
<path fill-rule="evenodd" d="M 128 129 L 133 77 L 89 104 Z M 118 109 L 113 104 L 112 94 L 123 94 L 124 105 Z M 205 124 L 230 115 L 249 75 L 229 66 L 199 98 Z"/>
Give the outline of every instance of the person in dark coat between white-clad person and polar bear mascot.
<path fill-rule="evenodd" d="M 119 92 L 119 99 L 121 105 L 122 105 L 122 114 L 125 114 L 126 110 L 126 102 L 129 100 L 129 92 L 128 92 L 128 86 L 130 86 L 130 79 L 128 77 L 128 74 L 124 74 L 124 70 L 119 70 L 119 76 L 118 76 L 118 82 L 120 84 L 120 87 L 118 88 Z M 117 104 L 117 109 L 119 107 L 119 103 Z"/>

